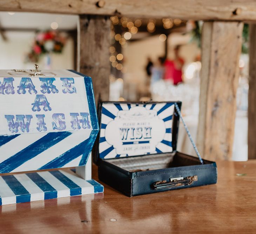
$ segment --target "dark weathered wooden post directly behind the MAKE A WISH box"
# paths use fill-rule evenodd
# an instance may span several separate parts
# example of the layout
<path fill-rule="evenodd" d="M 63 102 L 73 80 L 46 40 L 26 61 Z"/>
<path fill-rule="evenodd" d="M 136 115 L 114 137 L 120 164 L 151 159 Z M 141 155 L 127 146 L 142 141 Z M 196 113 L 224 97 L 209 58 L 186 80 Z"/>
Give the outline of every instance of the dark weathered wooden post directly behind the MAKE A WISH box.
<path fill-rule="evenodd" d="M 80 15 L 78 26 L 78 70 L 93 80 L 95 101 L 109 99 L 110 18 Z"/>

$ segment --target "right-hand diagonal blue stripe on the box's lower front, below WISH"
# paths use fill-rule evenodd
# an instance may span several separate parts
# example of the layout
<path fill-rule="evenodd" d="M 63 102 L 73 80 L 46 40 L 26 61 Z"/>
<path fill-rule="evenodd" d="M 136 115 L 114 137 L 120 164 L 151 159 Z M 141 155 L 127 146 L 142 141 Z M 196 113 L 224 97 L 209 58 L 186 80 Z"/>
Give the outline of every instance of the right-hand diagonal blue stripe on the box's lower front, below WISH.
<path fill-rule="evenodd" d="M 93 143 L 95 141 L 95 137 L 90 137 L 80 143 L 79 145 L 73 147 L 72 149 L 66 151 L 65 153 L 61 154 L 60 156 L 54 158 L 52 161 L 49 161 L 49 163 L 43 165 L 40 167 L 38 170 L 42 169 L 49 169 L 49 168 L 61 168 L 65 166 L 67 163 L 70 161 L 74 160 L 75 158 L 79 157 L 80 155 L 83 154 L 82 158 L 84 158 L 85 163 L 88 159 L 88 155 L 90 151 L 92 150 Z M 91 146 L 90 148 L 87 148 L 88 146 Z M 81 163 L 81 165 L 80 165 Z M 79 166 L 85 165 L 83 161 L 80 161 Z"/>

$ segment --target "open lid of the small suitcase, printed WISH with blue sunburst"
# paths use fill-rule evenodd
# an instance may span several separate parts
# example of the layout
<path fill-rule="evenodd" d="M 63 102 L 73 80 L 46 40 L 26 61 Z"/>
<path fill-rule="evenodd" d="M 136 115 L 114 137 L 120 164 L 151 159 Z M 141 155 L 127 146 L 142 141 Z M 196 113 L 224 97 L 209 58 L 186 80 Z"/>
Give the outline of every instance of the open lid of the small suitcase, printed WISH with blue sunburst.
<path fill-rule="evenodd" d="M 181 108 L 180 101 L 99 103 L 94 162 L 176 151 L 180 117 L 175 103 Z"/>

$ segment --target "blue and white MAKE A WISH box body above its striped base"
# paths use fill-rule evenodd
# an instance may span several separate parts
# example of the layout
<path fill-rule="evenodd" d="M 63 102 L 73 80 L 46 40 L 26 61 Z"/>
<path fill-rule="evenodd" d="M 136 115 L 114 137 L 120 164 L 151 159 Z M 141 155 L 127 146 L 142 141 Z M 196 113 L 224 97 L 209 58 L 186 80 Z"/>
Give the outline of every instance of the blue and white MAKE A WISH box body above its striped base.
<path fill-rule="evenodd" d="M 92 79 L 0 70 L 0 173 L 86 164 L 99 124 Z"/>

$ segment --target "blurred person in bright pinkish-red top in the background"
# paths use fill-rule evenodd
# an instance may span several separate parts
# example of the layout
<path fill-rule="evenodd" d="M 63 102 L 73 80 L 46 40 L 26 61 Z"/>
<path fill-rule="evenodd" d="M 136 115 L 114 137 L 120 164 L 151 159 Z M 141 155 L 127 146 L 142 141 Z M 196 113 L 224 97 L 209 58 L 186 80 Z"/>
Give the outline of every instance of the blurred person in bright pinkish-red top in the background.
<path fill-rule="evenodd" d="M 174 48 L 174 60 L 166 60 L 165 66 L 165 80 L 173 81 L 174 85 L 182 82 L 182 67 L 184 60 L 179 56 L 180 45 Z"/>

